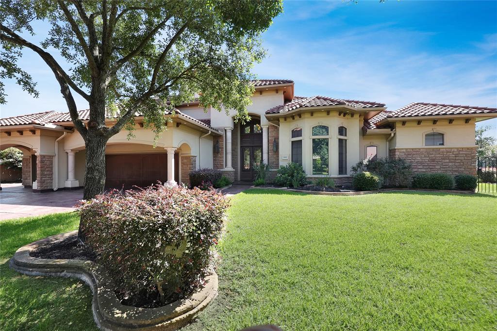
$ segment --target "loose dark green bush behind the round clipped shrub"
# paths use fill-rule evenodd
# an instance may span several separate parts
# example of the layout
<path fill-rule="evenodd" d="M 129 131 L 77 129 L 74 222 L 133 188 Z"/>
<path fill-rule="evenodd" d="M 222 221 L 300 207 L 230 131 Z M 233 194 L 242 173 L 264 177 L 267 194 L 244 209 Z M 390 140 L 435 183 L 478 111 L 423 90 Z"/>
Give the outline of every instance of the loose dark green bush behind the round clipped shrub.
<path fill-rule="evenodd" d="M 413 176 L 412 165 L 404 159 L 365 159 L 351 167 L 352 175 L 361 171 L 379 174 L 384 187 L 409 187 Z"/>

